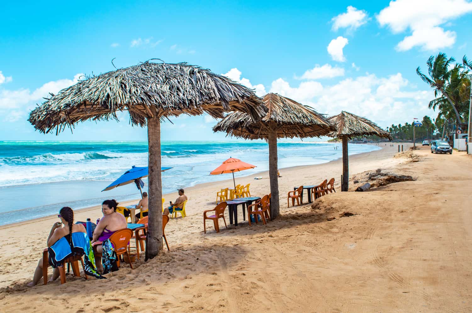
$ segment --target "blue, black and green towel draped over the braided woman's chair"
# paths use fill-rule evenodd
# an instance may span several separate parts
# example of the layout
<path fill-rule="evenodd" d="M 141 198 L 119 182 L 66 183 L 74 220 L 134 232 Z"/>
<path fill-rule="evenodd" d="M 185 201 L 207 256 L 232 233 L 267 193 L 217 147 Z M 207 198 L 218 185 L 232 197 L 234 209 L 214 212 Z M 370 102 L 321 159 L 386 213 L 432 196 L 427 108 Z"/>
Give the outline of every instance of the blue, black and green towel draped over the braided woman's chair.
<path fill-rule="evenodd" d="M 49 264 L 52 267 L 58 267 L 67 257 L 84 256 L 84 272 L 99 279 L 106 278 L 97 272 L 92 244 L 86 233 L 72 233 L 72 244 L 66 237 L 62 237 L 48 248 L 48 254 Z"/>

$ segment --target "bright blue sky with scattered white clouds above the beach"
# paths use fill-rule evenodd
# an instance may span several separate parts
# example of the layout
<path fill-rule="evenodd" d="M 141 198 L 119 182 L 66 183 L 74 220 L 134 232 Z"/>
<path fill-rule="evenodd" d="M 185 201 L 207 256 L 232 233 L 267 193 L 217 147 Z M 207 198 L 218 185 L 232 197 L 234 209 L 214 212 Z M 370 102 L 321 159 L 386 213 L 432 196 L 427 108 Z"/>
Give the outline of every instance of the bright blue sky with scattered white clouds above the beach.
<path fill-rule="evenodd" d="M 43 135 L 28 112 L 82 74 L 150 58 L 188 62 L 318 112 L 379 126 L 437 113 L 415 73 L 430 55 L 472 57 L 470 0 L 6 2 L 0 19 L 0 140 L 146 140 L 146 129 L 85 122 Z M 320 1 L 321 2 L 321 1 Z M 162 140 L 222 140 L 208 116 L 162 125 Z"/>

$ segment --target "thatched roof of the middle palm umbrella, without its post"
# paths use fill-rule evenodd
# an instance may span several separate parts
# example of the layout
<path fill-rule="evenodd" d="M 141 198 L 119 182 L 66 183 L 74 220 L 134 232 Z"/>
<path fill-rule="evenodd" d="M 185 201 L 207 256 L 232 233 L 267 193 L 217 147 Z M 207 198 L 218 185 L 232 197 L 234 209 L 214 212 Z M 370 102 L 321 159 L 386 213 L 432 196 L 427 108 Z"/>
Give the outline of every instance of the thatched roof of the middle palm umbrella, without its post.
<path fill-rule="evenodd" d="M 262 102 L 267 107 L 267 113 L 261 120 L 254 122 L 243 112 L 233 112 L 220 120 L 213 131 L 223 131 L 245 139 L 266 139 L 269 136 L 269 122 L 275 122 L 278 138 L 319 137 L 336 130 L 324 114 L 287 97 L 269 93 L 262 98 Z"/>

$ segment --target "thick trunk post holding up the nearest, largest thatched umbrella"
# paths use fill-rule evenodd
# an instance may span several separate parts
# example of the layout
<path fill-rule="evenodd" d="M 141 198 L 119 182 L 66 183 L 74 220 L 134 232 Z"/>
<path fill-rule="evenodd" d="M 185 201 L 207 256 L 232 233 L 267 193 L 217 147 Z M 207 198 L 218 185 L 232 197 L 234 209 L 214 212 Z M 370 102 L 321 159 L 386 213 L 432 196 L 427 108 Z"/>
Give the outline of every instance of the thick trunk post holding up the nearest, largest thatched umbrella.
<path fill-rule="evenodd" d="M 160 120 L 158 116 L 147 118 L 148 127 L 148 257 L 153 258 L 162 250 L 162 180 L 160 172 Z"/>

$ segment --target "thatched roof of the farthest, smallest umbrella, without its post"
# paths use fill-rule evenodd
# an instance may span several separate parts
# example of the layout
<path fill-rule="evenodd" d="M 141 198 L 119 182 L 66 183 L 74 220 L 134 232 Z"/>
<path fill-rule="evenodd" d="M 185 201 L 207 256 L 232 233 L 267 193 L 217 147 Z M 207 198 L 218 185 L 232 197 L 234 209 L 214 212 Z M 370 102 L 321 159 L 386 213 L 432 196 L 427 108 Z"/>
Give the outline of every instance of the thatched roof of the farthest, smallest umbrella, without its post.
<path fill-rule="evenodd" d="M 392 136 L 387 131 L 383 130 L 377 124 L 364 117 L 357 116 L 353 113 L 341 111 L 340 114 L 331 116 L 329 118 L 336 124 L 337 131 L 329 133 L 330 137 L 347 136 L 352 139 L 356 136 L 379 136 L 392 140 Z"/>

